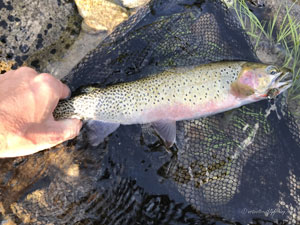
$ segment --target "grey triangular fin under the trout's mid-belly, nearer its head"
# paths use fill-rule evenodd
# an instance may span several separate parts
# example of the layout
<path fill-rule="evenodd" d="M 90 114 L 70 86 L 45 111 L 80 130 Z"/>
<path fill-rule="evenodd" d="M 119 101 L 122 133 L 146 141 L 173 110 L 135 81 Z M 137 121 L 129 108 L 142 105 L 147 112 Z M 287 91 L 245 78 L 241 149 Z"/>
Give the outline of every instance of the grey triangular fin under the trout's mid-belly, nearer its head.
<path fill-rule="evenodd" d="M 158 135 L 164 140 L 167 147 L 172 147 L 176 141 L 176 121 L 160 120 L 151 123 Z"/>

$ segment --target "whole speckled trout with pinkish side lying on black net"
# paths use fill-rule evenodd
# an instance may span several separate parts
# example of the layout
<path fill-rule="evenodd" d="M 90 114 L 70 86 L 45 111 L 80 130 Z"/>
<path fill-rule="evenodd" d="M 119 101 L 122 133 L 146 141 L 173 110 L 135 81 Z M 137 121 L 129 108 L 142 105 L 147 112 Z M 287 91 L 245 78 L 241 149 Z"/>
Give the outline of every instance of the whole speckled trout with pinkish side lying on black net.
<path fill-rule="evenodd" d="M 134 82 L 87 88 L 81 95 L 60 101 L 54 117 L 88 120 L 92 145 L 102 142 L 120 124 L 151 123 L 171 146 L 176 140 L 176 121 L 273 98 L 291 83 L 287 69 L 260 63 L 218 62 L 176 68 Z"/>

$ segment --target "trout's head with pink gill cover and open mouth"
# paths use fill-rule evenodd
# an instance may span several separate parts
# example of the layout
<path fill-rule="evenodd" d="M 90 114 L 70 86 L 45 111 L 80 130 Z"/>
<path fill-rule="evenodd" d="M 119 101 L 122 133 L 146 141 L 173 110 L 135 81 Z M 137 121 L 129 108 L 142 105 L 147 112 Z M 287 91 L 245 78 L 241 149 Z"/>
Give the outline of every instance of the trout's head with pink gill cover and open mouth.
<path fill-rule="evenodd" d="M 287 68 L 247 62 L 231 84 L 231 93 L 239 98 L 275 98 L 292 85 L 292 80 L 292 73 Z"/>

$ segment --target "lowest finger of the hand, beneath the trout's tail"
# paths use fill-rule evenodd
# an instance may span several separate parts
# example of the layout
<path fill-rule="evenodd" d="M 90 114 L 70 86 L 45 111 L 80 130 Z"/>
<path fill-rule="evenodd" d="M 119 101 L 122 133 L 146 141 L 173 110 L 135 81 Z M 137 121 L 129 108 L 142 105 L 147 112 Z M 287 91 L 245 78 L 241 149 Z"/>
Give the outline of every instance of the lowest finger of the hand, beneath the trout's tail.
<path fill-rule="evenodd" d="M 81 127 L 82 122 L 78 119 L 51 120 L 46 124 L 33 127 L 26 137 L 35 144 L 36 148 L 43 150 L 75 138 Z"/>

